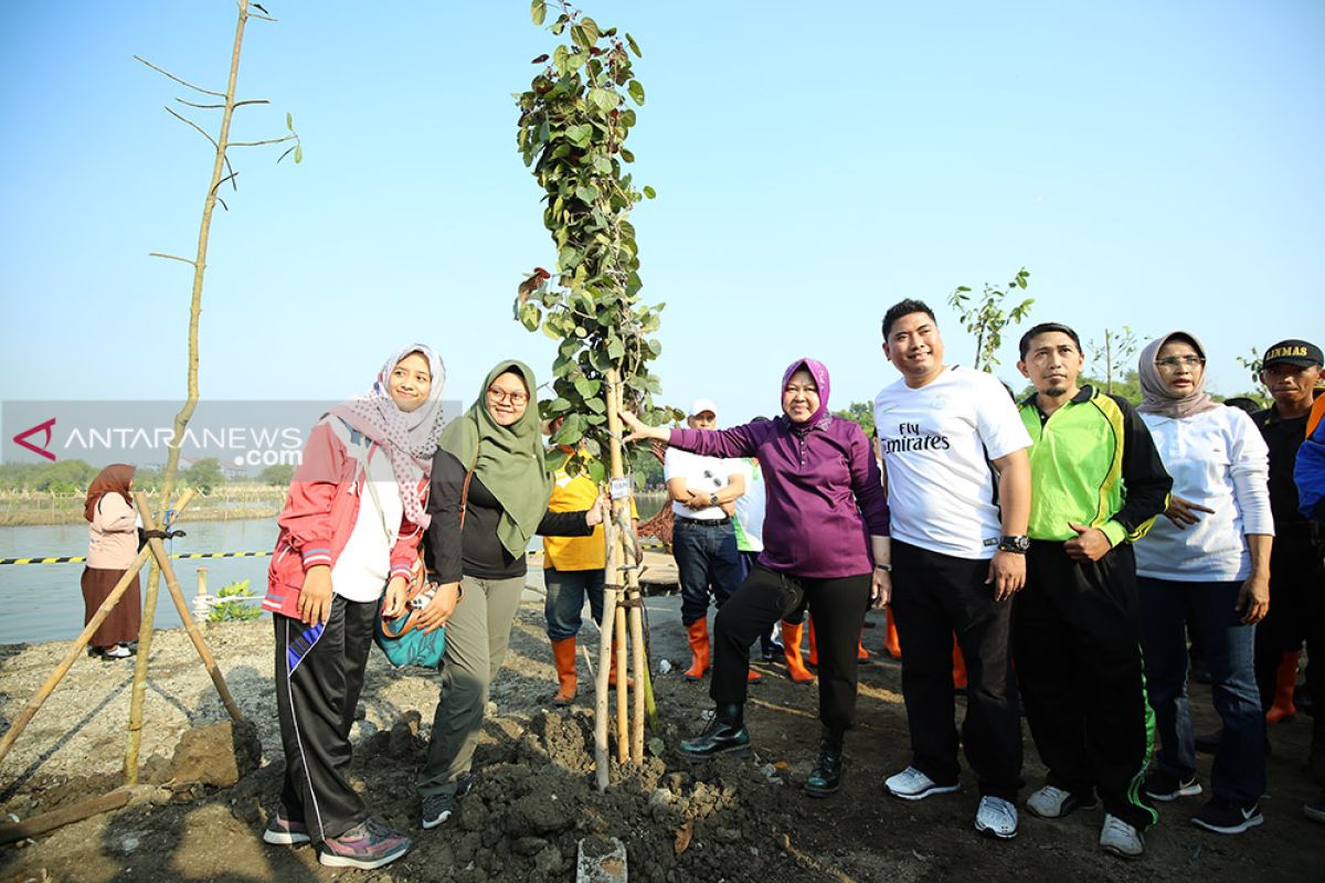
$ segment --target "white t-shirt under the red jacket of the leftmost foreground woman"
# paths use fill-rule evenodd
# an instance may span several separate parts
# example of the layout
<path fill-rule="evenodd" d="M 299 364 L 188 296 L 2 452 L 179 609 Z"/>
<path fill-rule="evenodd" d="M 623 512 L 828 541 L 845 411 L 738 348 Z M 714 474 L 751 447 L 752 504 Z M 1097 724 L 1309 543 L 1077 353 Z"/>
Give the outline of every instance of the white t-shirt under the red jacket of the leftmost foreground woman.
<path fill-rule="evenodd" d="M 350 540 L 331 568 L 331 590 L 346 601 L 376 601 L 387 588 L 391 573 L 391 548 L 400 534 L 400 519 L 404 515 L 404 502 L 396 485 L 391 458 L 380 447 L 372 450 L 371 442 L 359 433 L 350 432 L 343 421 L 331 421 L 333 430 L 346 445 L 346 453 L 360 463 L 367 458 L 367 475 L 360 473 L 355 487 L 359 495 L 359 515 L 350 532 Z M 374 498 L 363 481 L 372 482 Z M 382 508 L 378 508 L 380 500 Z M 386 522 L 386 527 L 383 527 Z"/>

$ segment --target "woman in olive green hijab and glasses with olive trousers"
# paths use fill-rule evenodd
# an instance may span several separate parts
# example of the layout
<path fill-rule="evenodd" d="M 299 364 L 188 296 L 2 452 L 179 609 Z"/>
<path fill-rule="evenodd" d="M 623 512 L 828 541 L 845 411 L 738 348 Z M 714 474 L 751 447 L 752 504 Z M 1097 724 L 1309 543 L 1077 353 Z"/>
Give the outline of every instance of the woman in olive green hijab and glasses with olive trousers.
<path fill-rule="evenodd" d="M 433 457 L 427 552 L 440 586 L 420 625 L 447 625 L 447 655 L 417 781 L 425 829 L 445 822 L 457 792 L 468 790 L 488 684 L 506 657 L 525 590 L 530 537 L 588 536 L 603 520 L 602 500 L 580 512 L 547 511 L 553 482 L 531 398 L 537 388 L 529 365 L 498 363 Z"/>

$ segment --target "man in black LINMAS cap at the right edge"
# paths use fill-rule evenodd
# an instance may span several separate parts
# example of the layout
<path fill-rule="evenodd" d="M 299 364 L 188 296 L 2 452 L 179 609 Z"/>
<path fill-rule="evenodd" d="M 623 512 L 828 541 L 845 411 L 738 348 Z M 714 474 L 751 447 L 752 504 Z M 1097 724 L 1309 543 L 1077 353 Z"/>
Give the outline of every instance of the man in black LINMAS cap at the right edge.
<path fill-rule="evenodd" d="M 1269 507 L 1275 516 L 1275 547 L 1269 559 L 1269 613 L 1256 626 L 1256 684 L 1267 720 L 1293 712 L 1292 691 L 1297 655 L 1306 638 L 1312 593 L 1325 585 L 1317 527 L 1298 508 L 1293 467 L 1306 438 L 1306 418 L 1321 373 L 1320 347 L 1305 340 L 1281 340 L 1265 351 L 1260 380 L 1275 398 L 1252 414 L 1269 446 Z M 1317 653 L 1325 649 L 1310 647 Z M 1287 687 L 1276 690 L 1284 669 Z M 1318 673 L 1317 673 L 1318 676 Z M 1276 698 L 1276 692 L 1283 695 Z M 1267 740 L 1267 748 L 1269 745 Z"/>

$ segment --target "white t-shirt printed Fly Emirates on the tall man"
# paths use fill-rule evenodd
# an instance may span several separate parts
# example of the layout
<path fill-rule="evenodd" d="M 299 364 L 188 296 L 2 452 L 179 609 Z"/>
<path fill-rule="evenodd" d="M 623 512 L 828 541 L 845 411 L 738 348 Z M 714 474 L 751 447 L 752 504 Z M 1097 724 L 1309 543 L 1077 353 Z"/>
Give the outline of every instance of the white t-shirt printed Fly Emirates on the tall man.
<path fill-rule="evenodd" d="M 953 365 L 921 387 L 874 398 L 892 536 L 930 552 L 991 559 L 1003 532 L 990 461 L 1031 446 L 992 375 Z"/>

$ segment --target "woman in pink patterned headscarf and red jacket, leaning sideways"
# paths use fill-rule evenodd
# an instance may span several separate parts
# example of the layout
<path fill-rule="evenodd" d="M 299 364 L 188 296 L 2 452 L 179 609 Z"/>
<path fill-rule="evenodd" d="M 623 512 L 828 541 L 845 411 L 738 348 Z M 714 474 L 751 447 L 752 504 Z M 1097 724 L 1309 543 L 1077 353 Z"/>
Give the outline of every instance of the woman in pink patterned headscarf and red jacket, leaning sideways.
<path fill-rule="evenodd" d="M 396 352 L 366 396 L 313 428 L 277 519 L 262 608 L 276 622 L 285 785 L 262 839 L 311 839 L 322 864 L 375 868 L 409 849 L 405 837 L 368 817 L 346 777 L 378 608 L 386 593 L 383 616 L 404 612 L 409 567 L 428 527 L 444 384 L 445 367 L 431 348 Z"/>

